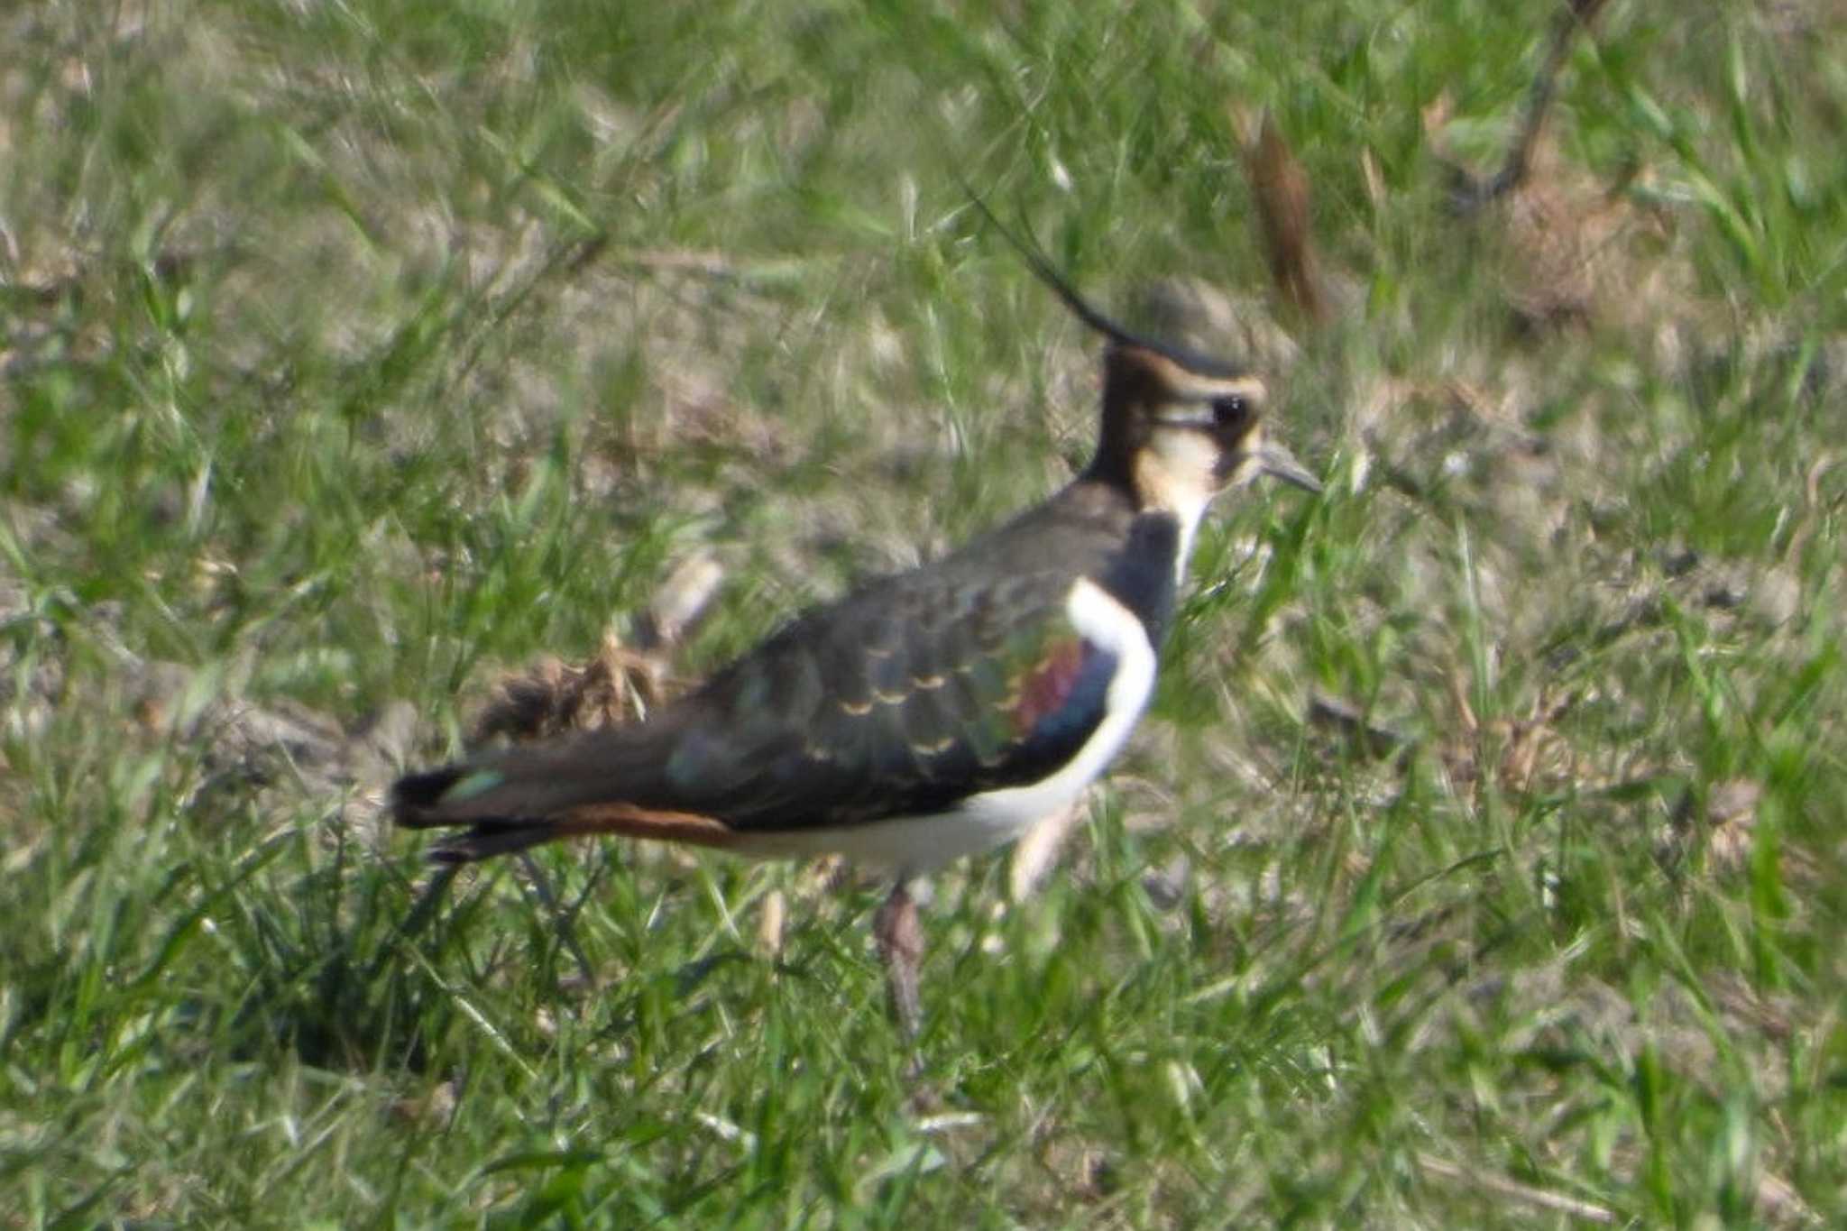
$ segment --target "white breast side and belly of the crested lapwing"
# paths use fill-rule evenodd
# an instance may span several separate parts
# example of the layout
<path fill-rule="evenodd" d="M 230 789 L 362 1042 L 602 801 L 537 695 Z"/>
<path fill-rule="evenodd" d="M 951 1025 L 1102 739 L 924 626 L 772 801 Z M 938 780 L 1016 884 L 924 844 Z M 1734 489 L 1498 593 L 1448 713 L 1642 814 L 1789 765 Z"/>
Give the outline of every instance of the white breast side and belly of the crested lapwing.
<path fill-rule="evenodd" d="M 973 795 L 951 812 L 752 834 L 742 849 L 781 856 L 844 855 L 855 862 L 883 864 L 909 878 L 1012 842 L 1042 816 L 1069 807 L 1129 742 L 1154 694 L 1156 663 L 1141 620 L 1101 585 L 1080 578 L 1064 609 L 1084 640 L 1116 655 L 1116 677 L 1105 694 L 1103 722 L 1056 773 L 1031 786 Z"/>

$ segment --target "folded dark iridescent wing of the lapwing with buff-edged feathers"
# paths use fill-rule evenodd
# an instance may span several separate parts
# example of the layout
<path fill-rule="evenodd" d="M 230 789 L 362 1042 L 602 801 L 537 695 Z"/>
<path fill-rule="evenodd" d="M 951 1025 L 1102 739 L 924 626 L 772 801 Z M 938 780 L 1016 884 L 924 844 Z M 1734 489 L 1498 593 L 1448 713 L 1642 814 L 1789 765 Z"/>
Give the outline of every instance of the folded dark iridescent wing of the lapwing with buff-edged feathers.
<path fill-rule="evenodd" d="M 1055 771 L 1103 720 L 1116 655 L 1066 615 L 1068 574 L 874 589 L 813 613 L 689 705 L 663 788 L 739 829 L 953 807 Z"/>

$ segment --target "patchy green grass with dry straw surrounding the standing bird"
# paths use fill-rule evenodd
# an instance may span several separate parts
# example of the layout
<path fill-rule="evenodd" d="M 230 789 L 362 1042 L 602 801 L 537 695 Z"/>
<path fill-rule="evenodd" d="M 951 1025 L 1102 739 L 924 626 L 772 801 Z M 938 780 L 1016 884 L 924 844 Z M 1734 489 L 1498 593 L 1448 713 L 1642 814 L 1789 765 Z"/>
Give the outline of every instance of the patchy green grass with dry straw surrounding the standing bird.
<path fill-rule="evenodd" d="M 0 1224 L 1847 1220 L 1847 33 L 1616 0 L 1461 220 L 1550 20 L 9 11 Z M 1208 526 L 1038 893 L 938 882 L 914 1100 L 877 886 L 438 899 L 377 801 L 689 559 L 696 677 L 1071 472 L 1097 347 L 959 173 L 1105 305 L 1236 288 L 1330 493 Z"/>

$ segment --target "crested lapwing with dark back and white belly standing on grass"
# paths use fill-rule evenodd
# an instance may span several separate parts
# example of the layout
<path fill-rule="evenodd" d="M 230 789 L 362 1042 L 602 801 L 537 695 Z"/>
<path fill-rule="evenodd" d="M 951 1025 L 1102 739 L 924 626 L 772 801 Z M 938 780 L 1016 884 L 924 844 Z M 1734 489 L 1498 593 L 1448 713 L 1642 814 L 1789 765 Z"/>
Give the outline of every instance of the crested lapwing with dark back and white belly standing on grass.
<path fill-rule="evenodd" d="M 1258 375 L 1117 325 L 975 203 L 1105 341 L 1090 463 L 959 550 L 796 615 L 641 722 L 406 773 L 397 825 L 454 831 L 430 860 L 619 834 L 879 866 L 872 932 L 918 1035 L 924 878 L 1073 807 L 1123 749 L 1213 496 L 1260 474 L 1321 491 L 1265 437 Z"/>

